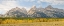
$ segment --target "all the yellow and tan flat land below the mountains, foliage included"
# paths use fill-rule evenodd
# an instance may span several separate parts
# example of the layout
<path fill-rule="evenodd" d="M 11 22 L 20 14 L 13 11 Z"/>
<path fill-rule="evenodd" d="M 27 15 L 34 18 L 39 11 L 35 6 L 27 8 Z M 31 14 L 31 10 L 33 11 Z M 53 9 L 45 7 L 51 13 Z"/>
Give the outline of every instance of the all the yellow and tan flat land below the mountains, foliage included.
<path fill-rule="evenodd" d="M 64 18 L 0 18 L 0 26 L 64 26 Z"/>

